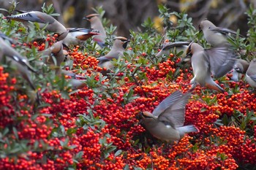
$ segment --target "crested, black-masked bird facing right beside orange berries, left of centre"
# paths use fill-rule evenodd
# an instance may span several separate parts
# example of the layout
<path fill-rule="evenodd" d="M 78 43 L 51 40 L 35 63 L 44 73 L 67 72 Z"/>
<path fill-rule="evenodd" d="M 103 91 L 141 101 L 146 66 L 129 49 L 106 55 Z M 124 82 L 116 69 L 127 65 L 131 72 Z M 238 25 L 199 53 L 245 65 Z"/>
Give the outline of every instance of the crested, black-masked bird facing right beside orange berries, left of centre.
<path fill-rule="evenodd" d="M 111 61 L 113 58 L 117 60 L 121 55 L 124 55 L 124 50 L 126 49 L 128 42 L 129 39 L 124 36 L 116 36 L 116 38 L 114 38 L 113 47 L 108 54 L 97 58 L 99 61 L 98 66 L 107 70 L 113 69 L 113 63 L 111 63 Z"/>

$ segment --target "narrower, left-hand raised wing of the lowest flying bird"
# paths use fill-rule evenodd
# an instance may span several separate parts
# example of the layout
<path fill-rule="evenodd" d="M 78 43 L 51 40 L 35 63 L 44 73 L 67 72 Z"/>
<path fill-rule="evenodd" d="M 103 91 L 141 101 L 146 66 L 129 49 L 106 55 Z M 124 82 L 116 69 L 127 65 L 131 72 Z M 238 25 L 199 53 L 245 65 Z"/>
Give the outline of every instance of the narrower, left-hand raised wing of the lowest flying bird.
<path fill-rule="evenodd" d="M 162 112 L 165 111 L 168 107 L 170 107 L 175 101 L 182 97 L 181 91 L 177 90 L 176 92 L 170 94 L 167 98 L 165 98 L 152 112 L 152 114 L 158 117 Z"/>

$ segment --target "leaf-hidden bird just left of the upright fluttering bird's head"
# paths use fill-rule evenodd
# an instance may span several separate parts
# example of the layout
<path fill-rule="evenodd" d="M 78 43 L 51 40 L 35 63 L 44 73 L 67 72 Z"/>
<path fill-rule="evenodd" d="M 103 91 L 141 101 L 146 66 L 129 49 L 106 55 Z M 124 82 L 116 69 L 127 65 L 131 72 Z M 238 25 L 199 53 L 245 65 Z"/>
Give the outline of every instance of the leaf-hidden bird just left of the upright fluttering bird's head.
<path fill-rule="evenodd" d="M 170 52 L 172 52 L 181 54 L 181 58 L 184 58 L 186 56 L 186 50 L 189 44 L 190 42 L 166 42 L 156 56 L 160 57 L 162 55 L 169 55 Z"/>

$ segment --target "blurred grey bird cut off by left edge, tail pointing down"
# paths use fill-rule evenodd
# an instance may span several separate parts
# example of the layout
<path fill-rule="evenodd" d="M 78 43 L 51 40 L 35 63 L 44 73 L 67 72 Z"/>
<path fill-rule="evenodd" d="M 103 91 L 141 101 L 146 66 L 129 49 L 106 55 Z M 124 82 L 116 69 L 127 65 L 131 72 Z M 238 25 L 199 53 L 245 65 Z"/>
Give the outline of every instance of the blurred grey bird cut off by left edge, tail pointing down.
<path fill-rule="evenodd" d="M 7 40 L 9 41 L 9 39 Z M 6 63 L 9 63 L 10 66 L 15 69 L 15 73 L 20 74 L 29 83 L 31 89 L 35 91 L 36 88 L 31 81 L 31 72 L 36 74 L 38 74 L 38 72 L 29 64 L 26 57 L 20 55 L 11 45 L 4 41 L 4 36 L 0 35 L 0 61 L 3 61 L 4 56 L 6 56 Z M 36 94 L 36 98 L 37 103 L 39 103 L 39 93 Z"/>

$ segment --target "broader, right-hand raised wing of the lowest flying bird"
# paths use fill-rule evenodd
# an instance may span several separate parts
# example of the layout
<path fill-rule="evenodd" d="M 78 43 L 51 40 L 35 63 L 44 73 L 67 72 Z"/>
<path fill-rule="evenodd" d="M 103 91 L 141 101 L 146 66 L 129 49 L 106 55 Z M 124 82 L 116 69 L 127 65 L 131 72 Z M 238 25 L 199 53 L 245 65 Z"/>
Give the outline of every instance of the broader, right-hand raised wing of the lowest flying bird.
<path fill-rule="evenodd" d="M 174 128 L 181 127 L 184 125 L 185 120 L 185 107 L 191 93 L 186 93 L 181 95 L 181 98 L 173 102 L 170 107 L 167 107 L 164 112 L 162 112 L 158 119 L 159 121 L 170 123 Z"/>

